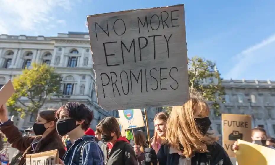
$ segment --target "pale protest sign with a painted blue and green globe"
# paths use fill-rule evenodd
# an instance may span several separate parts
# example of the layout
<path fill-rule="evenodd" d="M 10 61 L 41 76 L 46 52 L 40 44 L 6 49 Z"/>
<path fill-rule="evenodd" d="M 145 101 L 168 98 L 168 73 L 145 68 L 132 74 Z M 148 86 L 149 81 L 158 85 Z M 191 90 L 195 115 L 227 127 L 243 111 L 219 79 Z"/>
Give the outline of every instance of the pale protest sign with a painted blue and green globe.
<path fill-rule="evenodd" d="M 125 130 L 145 126 L 141 109 L 119 110 L 118 113 L 119 122 L 123 125 Z"/>

